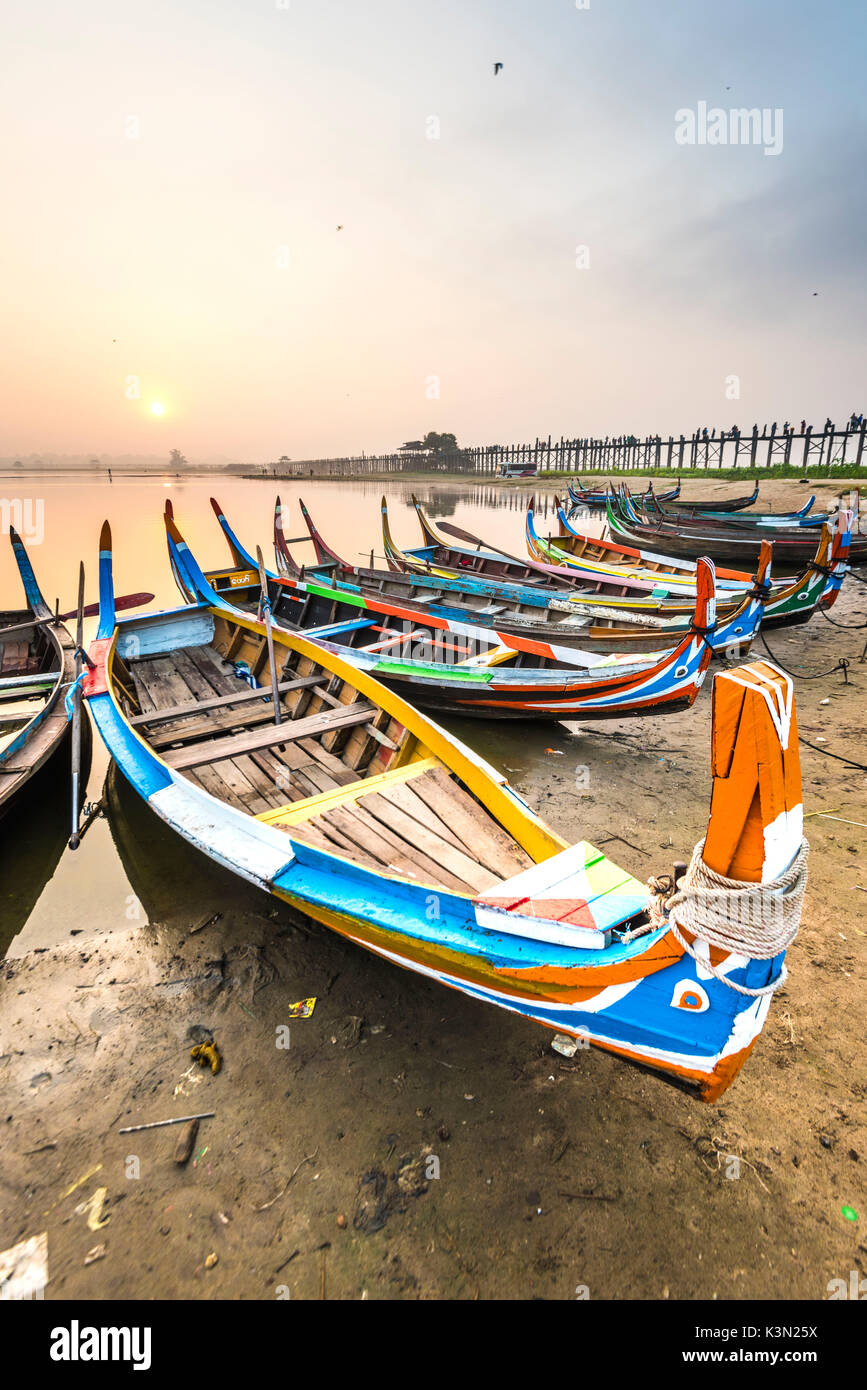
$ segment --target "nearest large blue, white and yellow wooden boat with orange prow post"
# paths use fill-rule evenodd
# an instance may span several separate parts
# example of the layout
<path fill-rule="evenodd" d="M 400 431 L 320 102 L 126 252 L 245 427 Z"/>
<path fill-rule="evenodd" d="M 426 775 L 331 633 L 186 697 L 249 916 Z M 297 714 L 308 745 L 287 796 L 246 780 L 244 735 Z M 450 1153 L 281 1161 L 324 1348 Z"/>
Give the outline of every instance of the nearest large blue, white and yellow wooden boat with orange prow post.
<path fill-rule="evenodd" d="M 645 884 L 568 845 L 399 695 L 303 637 L 274 631 L 274 646 L 279 723 L 270 692 L 225 662 L 261 671 L 264 624 L 207 603 L 118 620 L 103 527 L 83 691 L 157 816 L 385 960 L 717 1099 L 761 1031 L 782 952 L 706 945 L 677 906 L 649 915 Z M 709 866 L 778 873 L 799 794 L 786 677 L 768 663 L 717 677 Z"/>

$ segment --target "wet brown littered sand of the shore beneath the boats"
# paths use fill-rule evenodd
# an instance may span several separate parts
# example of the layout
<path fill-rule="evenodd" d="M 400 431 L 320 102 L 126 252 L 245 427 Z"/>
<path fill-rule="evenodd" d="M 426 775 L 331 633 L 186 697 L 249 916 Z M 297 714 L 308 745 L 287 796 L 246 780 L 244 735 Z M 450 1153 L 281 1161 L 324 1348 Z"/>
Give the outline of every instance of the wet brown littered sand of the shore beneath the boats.
<path fill-rule="evenodd" d="M 831 616 L 867 621 L 867 587 Z M 849 657 L 849 684 L 796 681 L 796 703 L 803 738 L 860 763 L 866 637 L 818 616 L 770 634 L 807 671 Z M 709 687 L 670 717 L 459 731 L 564 835 L 621 837 L 606 849 L 639 877 L 704 830 Z M 274 905 L 111 777 L 92 834 L 114 837 L 132 903 L 0 966 L 0 1250 L 47 1233 L 47 1298 L 827 1298 L 867 1254 L 867 859 L 863 827 L 811 813 L 867 821 L 867 773 L 802 762 L 791 976 L 714 1106 L 595 1049 L 565 1061 L 538 1026 Z M 217 1076 L 190 1063 L 193 1024 Z M 178 1129 L 118 1134 L 211 1109 L 186 1168 Z"/>

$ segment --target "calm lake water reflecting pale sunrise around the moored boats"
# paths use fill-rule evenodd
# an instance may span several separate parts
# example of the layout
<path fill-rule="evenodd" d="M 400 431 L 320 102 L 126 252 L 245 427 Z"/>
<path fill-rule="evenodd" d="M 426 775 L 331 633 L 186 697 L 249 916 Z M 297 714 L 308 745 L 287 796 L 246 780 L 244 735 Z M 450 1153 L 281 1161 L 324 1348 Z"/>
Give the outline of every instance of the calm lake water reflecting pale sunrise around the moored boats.
<path fill-rule="evenodd" d="M 19 499 L 28 552 L 49 603 L 60 598 L 61 612 L 75 603 L 78 564 L 85 562 L 86 600 L 97 598 L 97 548 L 104 518 L 111 523 L 115 594 L 147 591 L 153 607 L 181 602 L 170 570 L 163 527 L 165 498 L 185 539 L 204 569 L 229 563 L 228 549 L 208 499 L 217 496 L 249 549 L 261 545 L 272 567 L 274 498 L 279 489 L 286 534 L 297 537 L 304 524 L 299 493 L 325 539 L 350 562 L 370 560 L 371 548 L 382 556 L 379 498 L 382 481 L 315 482 L 218 478 L 208 475 L 107 477 L 94 474 L 0 474 L 0 498 Z M 421 543 L 410 495 L 415 492 L 435 518 L 450 520 L 485 539 L 524 556 L 524 506 L 528 489 L 490 484 L 388 482 L 392 534 L 399 545 Z M 550 517 L 550 498 L 542 500 L 542 517 Z M 286 516 L 288 509 L 288 516 Z M 6 517 L 3 524 L 8 524 Z M 599 530 L 596 525 L 593 530 Z M 299 560 L 313 559 L 311 545 L 293 545 Z M 381 559 L 378 563 L 383 563 Z M 0 543 L 0 606 L 24 603 L 21 582 L 8 543 Z M 86 627 L 88 639 L 96 620 Z M 497 766 L 507 769 L 518 788 L 534 780 L 545 748 L 557 744 L 559 726 L 515 728 L 482 721 L 450 721 L 467 742 Z M 92 802 L 103 796 L 108 756 L 94 733 L 88 783 Z M 149 915 L 170 912 L 193 922 L 208 860 L 156 821 L 128 788 L 114 788 L 107 799 L 108 819 L 90 826 L 81 848 L 69 853 L 68 784 L 63 771 L 43 778 L 31 805 L 0 823 L 0 955 L 22 955 L 75 937 L 126 930 L 146 923 Z M 119 847 L 119 848 L 118 848 Z M 132 858 L 135 853 L 135 866 Z M 135 878 L 135 888 L 132 880 Z M 165 884 L 172 883 L 167 902 Z M 256 890 L 250 888 L 250 894 Z M 258 895 L 257 895 L 258 897 Z M 264 895 L 263 901 L 264 901 Z M 154 909 L 154 905 L 157 908 Z"/>

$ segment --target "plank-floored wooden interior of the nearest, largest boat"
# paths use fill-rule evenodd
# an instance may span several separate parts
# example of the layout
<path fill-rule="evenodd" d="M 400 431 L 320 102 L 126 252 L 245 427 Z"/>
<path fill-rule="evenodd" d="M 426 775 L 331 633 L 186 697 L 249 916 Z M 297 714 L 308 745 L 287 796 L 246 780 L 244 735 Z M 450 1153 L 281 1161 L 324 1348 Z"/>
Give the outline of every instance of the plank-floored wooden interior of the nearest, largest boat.
<path fill-rule="evenodd" d="M 124 626 L 113 662 L 128 721 L 190 783 L 295 840 L 454 892 L 534 863 L 417 735 L 340 674 L 275 632 L 276 724 L 264 632 L 207 610 L 200 623 L 204 641 L 171 651 L 149 641 L 147 623 Z"/>

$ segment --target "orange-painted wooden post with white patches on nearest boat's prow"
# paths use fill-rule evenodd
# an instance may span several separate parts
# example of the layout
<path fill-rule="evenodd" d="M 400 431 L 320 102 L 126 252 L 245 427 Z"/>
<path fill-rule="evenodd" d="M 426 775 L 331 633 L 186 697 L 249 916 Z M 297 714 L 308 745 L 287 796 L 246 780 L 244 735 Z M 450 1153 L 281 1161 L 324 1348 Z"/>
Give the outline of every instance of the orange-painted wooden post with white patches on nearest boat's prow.
<path fill-rule="evenodd" d="M 792 680 L 771 662 L 716 677 L 711 770 L 704 863 L 746 883 L 777 878 L 800 849 L 803 801 Z"/>

